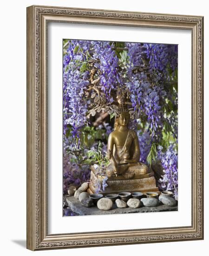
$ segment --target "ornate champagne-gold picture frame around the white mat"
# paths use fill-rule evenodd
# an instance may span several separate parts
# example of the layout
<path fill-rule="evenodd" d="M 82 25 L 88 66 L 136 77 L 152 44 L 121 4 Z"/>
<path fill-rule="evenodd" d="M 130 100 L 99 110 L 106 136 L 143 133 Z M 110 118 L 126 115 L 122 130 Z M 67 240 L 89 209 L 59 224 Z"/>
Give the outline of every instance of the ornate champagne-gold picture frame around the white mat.
<path fill-rule="evenodd" d="M 49 22 L 191 31 L 191 226 L 48 233 Z M 203 239 L 203 17 L 66 7 L 27 7 L 27 249 L 63 249 Z"/>

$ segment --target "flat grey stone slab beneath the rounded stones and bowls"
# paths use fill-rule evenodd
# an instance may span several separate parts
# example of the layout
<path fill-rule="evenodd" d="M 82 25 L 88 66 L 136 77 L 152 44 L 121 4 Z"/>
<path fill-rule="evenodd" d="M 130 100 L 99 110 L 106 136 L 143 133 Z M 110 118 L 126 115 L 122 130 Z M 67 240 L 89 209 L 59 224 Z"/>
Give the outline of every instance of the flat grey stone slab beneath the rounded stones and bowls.
<path fill-rule="evenodd" d="M 121 213 L 141 213 L 141 212 L 162 212 L 162 211 L 177 211 L 178 206 L 167 206 L 160 202 L 159 206 L 156 207 L 140 207 L 140 208 L 117 208 L 115 204 L 113 204 L 113 208 L 111 210 L 105 211 L 100 210 L 97 206 L 91 206 L 90 208 L 84 207 L 78 199 L 74 196 L 67 196 L 66 202 L 68 206 L 72 209 L 73 212 L 78 215 L 104 215 L 104 214 L 121 214 Z"/>

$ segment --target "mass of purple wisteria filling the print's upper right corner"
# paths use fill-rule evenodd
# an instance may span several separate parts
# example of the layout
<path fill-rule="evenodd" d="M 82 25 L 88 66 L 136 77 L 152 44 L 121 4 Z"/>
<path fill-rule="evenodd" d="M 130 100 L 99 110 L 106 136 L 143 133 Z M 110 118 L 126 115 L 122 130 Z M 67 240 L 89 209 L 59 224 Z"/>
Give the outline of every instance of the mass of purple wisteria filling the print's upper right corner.
<path fill-rule="evenodd" d="M 150 124 L 149 130 L 153 141 L 162 139 L 162 130 L 165 122 L 170 124 L 173 133 L 177 132 L 176 117 L 173 111 L 164 116 L 165 98 L 176 106 L 177 93 L 166 82 L 172 80 L 173 74 L 168 70 L 177 68 L 177 46 L 163 44 L 126 43 L 128 48 L 129 66 L 127 69 L 129 81 L 126 83 L 131 95 L 131 103 L 136 115 L 147 115 Z M 139 70 L 136 72 L 137 68 Z M 164 79 L 164 80 L 163 80 Z M 168 81 L 167 81 L 168 80 Z"/>

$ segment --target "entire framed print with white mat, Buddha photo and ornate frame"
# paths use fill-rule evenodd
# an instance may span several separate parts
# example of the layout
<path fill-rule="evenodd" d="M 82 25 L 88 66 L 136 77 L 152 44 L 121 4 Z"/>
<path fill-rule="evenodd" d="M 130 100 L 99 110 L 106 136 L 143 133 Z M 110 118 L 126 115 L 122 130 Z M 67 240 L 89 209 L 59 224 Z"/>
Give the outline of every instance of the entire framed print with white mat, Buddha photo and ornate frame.
<path fill-rule="evenodd" d="M 203 17 L 27 7 L 27 248 L 203 239 Z"/>

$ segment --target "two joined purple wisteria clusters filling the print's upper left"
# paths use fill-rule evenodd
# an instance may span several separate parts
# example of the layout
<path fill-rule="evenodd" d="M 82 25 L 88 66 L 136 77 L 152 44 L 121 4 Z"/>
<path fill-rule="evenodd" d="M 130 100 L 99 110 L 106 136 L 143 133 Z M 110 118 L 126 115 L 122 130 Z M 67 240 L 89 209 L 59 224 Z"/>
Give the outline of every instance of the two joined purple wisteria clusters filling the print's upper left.
<path fill-rule="evenodd" d="M 88 111 L 85 91 L 89 86 L 90 72 L 81 72 L 89 60 L 95 60 L 94 66 L 100 72 L 101 90 L 106 95 L 107 104 L 113 101 L 111 90 L 120 81 L 118 57 L 110 42 L 70 40 L 63 57 L 63 105 L 64 130 L 72 126 L 72 135 L 79 138 L 79 131 L 86 123 Z"/>

